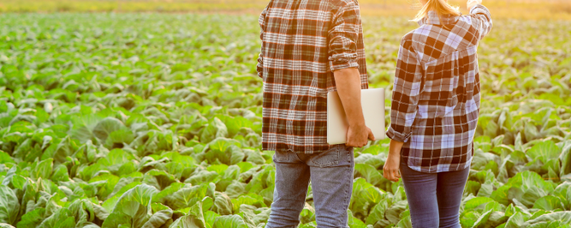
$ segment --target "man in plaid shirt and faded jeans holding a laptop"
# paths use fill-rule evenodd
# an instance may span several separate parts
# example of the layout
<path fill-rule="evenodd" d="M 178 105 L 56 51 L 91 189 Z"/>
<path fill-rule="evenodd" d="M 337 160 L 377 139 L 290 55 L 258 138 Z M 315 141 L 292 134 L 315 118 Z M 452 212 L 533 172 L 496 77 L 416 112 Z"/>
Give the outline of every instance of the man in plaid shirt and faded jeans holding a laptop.
<path fill-rule="evenodd" d="M 271 0 L 260 19 L 263 150 L 276 151 L 276 189 L 268 228 L 297 227 L 311 177 L 318 227 L 348 227 L 353 147 L 365 126 L 368 88 L 356 0 Z M 327 144 L 327 93 L 337 90 L 348 117 L 345 145 Z"/>

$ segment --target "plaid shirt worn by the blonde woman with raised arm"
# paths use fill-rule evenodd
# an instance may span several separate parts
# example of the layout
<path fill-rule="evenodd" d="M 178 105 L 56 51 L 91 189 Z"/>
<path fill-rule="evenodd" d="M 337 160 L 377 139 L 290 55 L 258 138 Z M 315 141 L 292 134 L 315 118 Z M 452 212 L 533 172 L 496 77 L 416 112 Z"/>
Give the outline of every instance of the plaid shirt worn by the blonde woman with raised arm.
<path fill-rule="evenodd" d="M 387 136 L 405 142 L 401 156 L 413 170 L 463 170 L 474 150 L 476 51 L 492 28 L 490 11 L 476 5 L 469 15 L 440 20 L 431 11 L 419 24 L 400 41 Z"/>

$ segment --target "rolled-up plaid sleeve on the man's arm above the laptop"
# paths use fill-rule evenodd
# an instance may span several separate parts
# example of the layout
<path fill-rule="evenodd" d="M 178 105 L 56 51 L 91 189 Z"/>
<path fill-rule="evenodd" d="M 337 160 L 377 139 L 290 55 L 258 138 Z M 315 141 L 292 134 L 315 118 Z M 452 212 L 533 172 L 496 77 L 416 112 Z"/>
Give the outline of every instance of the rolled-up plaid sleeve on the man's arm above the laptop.
<path fill-rule="evenodd" d="M 340 7 L 329 30 L 328 56 L 331 71 L 358 68 L 357 41 L 361 26 L 356 1 Z"/>

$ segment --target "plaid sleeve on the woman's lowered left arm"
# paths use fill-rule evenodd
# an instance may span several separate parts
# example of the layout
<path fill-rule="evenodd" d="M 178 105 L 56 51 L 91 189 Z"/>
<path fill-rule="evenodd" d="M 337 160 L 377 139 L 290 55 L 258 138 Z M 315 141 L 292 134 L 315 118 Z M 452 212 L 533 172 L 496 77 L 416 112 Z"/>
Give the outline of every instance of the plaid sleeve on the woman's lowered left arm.
<path fill-rule="evenodd" d="M 420 98 L 422 68 L 406 36 L 398 51 L 393 98 L 390 103 L 390 126 L 387 137 L 399 142 L 408 142 L 417 113 Z"/>

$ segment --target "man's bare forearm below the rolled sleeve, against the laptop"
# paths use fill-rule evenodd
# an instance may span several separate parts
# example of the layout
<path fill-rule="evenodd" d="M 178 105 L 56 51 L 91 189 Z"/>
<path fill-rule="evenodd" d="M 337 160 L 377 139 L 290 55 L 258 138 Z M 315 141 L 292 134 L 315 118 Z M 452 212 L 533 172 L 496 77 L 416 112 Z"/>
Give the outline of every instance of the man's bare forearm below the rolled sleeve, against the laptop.
<path fill-rule="evenodd" d="M 335 85 L 350 127 L 364 128 L 365 118 L 361 107 L 361 81 L 357 68 L 333 72 Z"/>

